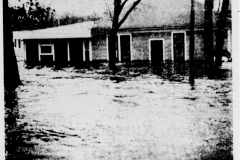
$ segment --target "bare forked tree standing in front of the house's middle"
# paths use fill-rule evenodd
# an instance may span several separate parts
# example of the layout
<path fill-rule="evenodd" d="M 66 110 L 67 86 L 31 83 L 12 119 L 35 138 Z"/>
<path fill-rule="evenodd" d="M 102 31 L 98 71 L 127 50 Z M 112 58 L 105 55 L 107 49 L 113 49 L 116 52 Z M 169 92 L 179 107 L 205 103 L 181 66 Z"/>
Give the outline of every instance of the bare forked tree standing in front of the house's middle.
<path fill-rule="evenodd" d="M 126 8 L 126 4 L 130 0 L 114 0 L 113 12 L 108 7 L 109 16 L 112 20 L 112 27 L 109 36 L 109 68 L 114 69 L 116 63 L 116 48 L 117 48 L 117 32 L 121 25 L 125 22 L 130 13 L 137 7 L 141 0 L 134 0 L 131 2 L 130 7 L 122 12 Z"/>

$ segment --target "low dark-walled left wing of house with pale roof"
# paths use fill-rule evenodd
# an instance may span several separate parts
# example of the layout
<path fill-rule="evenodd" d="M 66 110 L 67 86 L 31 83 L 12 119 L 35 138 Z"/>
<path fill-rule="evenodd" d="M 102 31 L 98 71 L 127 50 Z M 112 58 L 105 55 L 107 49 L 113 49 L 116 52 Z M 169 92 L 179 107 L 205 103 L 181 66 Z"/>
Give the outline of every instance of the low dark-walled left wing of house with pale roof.
<path fill-rule="evenodd" d="M 23 41 L 22 52 L 28 65 L 39 63 L 77 65 L 91 61 L 91 28 L 94 22 L 33 31 L 14 32 L 14 39 Z M 17 40 L 18 41 L 18 40 Z M 18 47 L 18 46 L 17 46 Z"/>

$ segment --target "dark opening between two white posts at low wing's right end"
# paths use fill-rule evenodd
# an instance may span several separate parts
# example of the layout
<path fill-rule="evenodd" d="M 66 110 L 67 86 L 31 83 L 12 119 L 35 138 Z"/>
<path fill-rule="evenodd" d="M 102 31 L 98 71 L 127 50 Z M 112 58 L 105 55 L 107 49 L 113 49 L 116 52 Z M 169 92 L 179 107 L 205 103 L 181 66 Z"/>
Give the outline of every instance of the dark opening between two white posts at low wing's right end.
<path fill-rule="evenodd" d="M 74 39 L 69 41 L 70 63 L 73 66 L 81 66 L 83 63 L 83 41 Z"/>

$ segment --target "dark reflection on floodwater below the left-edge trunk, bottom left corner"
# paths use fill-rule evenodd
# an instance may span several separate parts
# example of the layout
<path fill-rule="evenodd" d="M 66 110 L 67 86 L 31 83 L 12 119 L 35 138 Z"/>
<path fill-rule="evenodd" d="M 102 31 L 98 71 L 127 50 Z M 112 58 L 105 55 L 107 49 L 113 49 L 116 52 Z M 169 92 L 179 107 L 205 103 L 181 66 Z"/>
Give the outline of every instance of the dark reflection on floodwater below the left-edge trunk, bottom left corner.
<path fill-rule="evenodd" d="M 34 159 L 31 151 L 36 144 L 27 143 L 27 123 L 20 123 L 18 97 L 15 91 L 5 92 L 5 157 L 6 159 Z M 35 157 L 37 158 L 37 157 Z"/>

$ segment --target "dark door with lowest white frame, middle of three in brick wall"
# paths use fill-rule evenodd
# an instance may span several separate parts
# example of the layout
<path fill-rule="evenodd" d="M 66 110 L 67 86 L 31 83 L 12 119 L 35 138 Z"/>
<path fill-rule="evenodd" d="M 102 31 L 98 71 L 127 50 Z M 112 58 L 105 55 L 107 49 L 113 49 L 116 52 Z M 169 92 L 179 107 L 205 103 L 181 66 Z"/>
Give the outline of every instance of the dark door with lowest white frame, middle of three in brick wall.
<path fill-rule="evenodd" d="M 153 64 L 163 62 L 163 40 L 150 40 L 151 61 Z"/>

